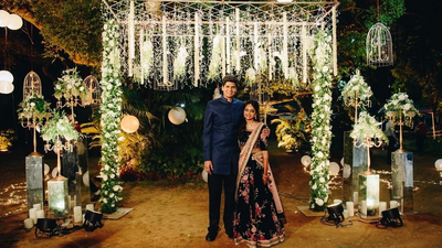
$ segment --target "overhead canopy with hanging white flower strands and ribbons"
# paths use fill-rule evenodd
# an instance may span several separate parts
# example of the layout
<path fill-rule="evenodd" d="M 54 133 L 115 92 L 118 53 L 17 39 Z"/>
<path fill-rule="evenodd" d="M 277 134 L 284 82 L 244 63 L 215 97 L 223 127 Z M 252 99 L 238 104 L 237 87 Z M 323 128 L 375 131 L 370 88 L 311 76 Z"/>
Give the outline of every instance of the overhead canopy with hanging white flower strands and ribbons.
<path fill-rule="evenodd" d="M 335 1 L 116 1 L 103 11 L 119 29 L 123 74 L 155 89 L 204 87 L 255 73 L 307 85 L 316 28 L 334 30 Z"/>

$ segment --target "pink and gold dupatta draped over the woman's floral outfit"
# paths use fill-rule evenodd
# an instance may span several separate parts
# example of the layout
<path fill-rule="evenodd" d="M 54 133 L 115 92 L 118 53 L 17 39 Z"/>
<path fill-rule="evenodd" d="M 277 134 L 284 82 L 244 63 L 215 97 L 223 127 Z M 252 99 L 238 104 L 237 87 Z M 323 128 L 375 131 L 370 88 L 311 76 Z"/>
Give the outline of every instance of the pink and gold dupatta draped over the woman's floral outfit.
<path fill-rule="evenodd" d="M 257 139 L 260 138 L 261 130 L 262 130 L 263 127 L 264 127 L 264 123 L 262 123 L 262 122 L 260 122 L 257 125 L 255 130 L 253 130 L 253 132 L 250 134 L 250 137 L 248 139 L 248 142 L 245 142 L 244 147 L 241 150 L 240 160 L 239 160 L 239 170 L 238 170 L 238 176 L 236 176 L 236 193 L 235 193 L 235 197 L 236 198 L 238 198 L 238 186 L 240 185 L 241 175 L 244 172 L 245 165 L 249 162 L 249 159 L 250 159 L 250 155 L 252 153 L 253 147 L 256 143 Z M 254 153 L 252 155 L 252 159 L 255 160 L 259 165 L 263 166 L 263 154 L 262 154 L 262 152 Z M 278 214 L 282 214 L 284 212 L 284 209 L 283 209 L 283 205 L 281 203 L 280 194 L 277 193 L 275 179 L 273 177 L 273 173 L 272 173 L 270 163 L 267 165 L 269 165 L 269 169 L 267 169 L 267 176 L 269 176 L 267 187 L 272 192 L 273 201 L 275 202 L 276 212 Z"/>

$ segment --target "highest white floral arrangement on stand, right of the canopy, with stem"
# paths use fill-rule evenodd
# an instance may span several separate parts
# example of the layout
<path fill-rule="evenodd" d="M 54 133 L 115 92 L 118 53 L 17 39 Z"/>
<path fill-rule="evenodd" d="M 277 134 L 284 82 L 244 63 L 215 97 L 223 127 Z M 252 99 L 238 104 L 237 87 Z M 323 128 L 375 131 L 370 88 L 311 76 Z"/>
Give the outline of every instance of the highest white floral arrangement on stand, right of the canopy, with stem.
<path fill-rule="evenodd" d="M 355 122 L 358 120 L 358 107 L 370 106 L 370 97 L 372 96 L 371 87 L 367 85 L 359 69 L 350 77 L 350 80 L 341 91 L 346 106 L 355 107 Z"/>

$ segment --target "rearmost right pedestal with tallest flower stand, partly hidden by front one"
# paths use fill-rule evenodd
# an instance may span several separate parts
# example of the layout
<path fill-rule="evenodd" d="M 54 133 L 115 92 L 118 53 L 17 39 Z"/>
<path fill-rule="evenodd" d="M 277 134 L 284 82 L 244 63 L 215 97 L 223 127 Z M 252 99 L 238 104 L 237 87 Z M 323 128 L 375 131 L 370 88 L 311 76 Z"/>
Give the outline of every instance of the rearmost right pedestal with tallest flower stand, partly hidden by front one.
<path fill-rule="evenodd" d="M 341 91 L 344 104 L 352 109 L 355 123 L 358 121 L 358 110 L 371 106 L 370 97 L 372 96 L 371 87 L 367 85 L 359 69 L 350 77 L 350 80 Z M 344 139 L 349 140 L 350 131 L 344 133 Z M 344 164 L 351 165 L 351 179 L 343 182 L 343 200 L 352 201 L 357 205 L 357 200 L 352 198 L 354 192 L 358 192 L 359 174 L 367 170 L 367 149 L 354 145 L 354 141 L 344 142 Z M 351 180 L 351 181 L 350 181 Z"/>

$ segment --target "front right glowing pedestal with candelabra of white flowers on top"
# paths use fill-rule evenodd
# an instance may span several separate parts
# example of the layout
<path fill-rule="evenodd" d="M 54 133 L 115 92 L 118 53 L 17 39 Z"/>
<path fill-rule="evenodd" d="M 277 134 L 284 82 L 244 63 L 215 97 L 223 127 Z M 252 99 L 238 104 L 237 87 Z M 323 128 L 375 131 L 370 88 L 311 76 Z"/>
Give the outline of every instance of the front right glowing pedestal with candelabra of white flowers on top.
<path fill-rule="evenodd" d="M 381 122 L 378 122 L 368 112 L 361 111 L 358 121 L 355 123 L 350 137 L 354 145 L 367 150 L 367 171 L 359 173 L 358 209 L 362 218 L 379 216 L 379 174 L 370 170 L 370 148 L 380 147 L 387 137 L 381 130 Z"/>

